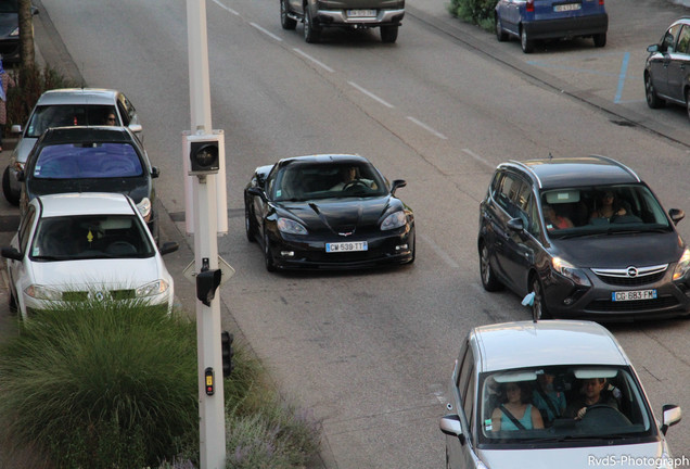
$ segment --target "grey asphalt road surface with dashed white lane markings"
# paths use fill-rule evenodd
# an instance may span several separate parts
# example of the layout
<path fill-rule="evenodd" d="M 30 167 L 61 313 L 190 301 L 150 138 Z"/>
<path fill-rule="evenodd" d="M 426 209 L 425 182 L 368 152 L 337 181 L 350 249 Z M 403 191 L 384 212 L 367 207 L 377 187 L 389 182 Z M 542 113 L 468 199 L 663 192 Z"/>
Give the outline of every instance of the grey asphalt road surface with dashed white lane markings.
<path fill-rule="evenodd" d="M 37 2 L 39 3 L 39 2 Z M 183 2 L 42 0 L 39 50 L 89 86 L 124 90 L 142 115 L 162 167 L 169 215 L 166 256 L 180 303 L 192 259 L 179 159 L 189 128 Z M 647 109 L 648 45 L 685 9 L 608 0 L 609 43 L 559 43 L 525 55 L 518 42 L 448 16 L 443 2 L 409 0 L 396 45 L 378 31 L 333 33 L 305 45 L 283 31 L 274 1 L 207 2 L 214 127 L 226 130 L 229 232 L 219 252 L 238 270 L 223 287 L 223 325 L 264 358 L 284 394 L 323 420 L 328 468 L 443 466 L 438 417 L 460 338 L 480 324 L 527 319 L 509 293 L 482 291 L 476 207 L 506 159 L 603 153 L 636 168 L 668 207 L 690 211 L 685 111 Z M 48 20 L 50 17 L 50 21 Z M 51 27 L 54 26 L 54 27 Z M 55 36 L 60 31 L 60 36 Z M 244 240 L 242 192 L 252 169 L 283 155 L 358 152 L 416 211 L 414 266 L 354 274 L 268 275 Z M 3 154 L 4 156 L 4 154 Z M 0 201 L 10 236 L 15 211 Z M 690 223 L 679 229 L 690 239 Z M 2 294 L 7 296 L 7 291 Z M 7 304 L 7 302 L 3 302 Z M 11 319 L 0 310 L 2 330 Z M 687 320 L 614 325 L 650 394 L 690 408 Z M 690 455 L 690 430 L 669 431 Z"/>

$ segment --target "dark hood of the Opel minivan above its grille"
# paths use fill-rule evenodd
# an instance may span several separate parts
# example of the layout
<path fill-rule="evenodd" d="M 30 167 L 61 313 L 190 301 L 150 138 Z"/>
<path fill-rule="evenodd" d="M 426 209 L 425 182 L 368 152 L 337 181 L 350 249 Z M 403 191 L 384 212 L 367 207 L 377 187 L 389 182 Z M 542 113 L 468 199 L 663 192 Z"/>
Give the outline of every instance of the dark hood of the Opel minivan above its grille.
<path fill-rule="evenodd" d="M 670 232 L 612 233 L 555 239 L 554 254 L 577 267 L 625 268 L 675 263 L 683 246 Z"/>

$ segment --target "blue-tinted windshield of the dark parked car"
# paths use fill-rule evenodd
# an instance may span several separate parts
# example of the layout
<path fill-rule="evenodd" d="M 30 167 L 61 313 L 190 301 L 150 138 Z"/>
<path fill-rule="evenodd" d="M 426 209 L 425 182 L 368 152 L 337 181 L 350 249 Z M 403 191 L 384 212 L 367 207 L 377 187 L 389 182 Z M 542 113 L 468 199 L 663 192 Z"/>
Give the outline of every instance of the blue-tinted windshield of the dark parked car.
<path fill-rule="evenodd" d="M 63 143 L 41 150 L 34 167 L 37 179 L 81 179 L 141 176 L 139 155 L 129 143 Z"/>

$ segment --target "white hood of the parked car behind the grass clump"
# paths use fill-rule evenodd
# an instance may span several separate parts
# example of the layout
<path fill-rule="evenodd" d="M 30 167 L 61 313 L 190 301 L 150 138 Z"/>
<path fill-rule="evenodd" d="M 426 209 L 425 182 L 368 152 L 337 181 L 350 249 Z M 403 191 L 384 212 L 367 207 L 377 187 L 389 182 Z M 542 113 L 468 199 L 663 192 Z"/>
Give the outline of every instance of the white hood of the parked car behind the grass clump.
<path fill-rule="evenodd" d="M 108 284 L 140 287 L 169 275 L 156 257 L 31 263 L 34 283 L 58 288 Z"/>

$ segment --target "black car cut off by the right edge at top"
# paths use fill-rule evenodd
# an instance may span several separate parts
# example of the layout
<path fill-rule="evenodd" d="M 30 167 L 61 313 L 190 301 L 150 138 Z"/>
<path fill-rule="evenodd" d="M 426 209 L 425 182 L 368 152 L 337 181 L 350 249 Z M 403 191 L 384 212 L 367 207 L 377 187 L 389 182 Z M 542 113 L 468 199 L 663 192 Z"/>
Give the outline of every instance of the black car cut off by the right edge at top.
<path fill-rule="evenodd" d="M 647 48 L 644 96 L 652 109 L 666 102 L 686 107 L 690 117 L 690 17 L 675 21 L 661 41 Z"/>

